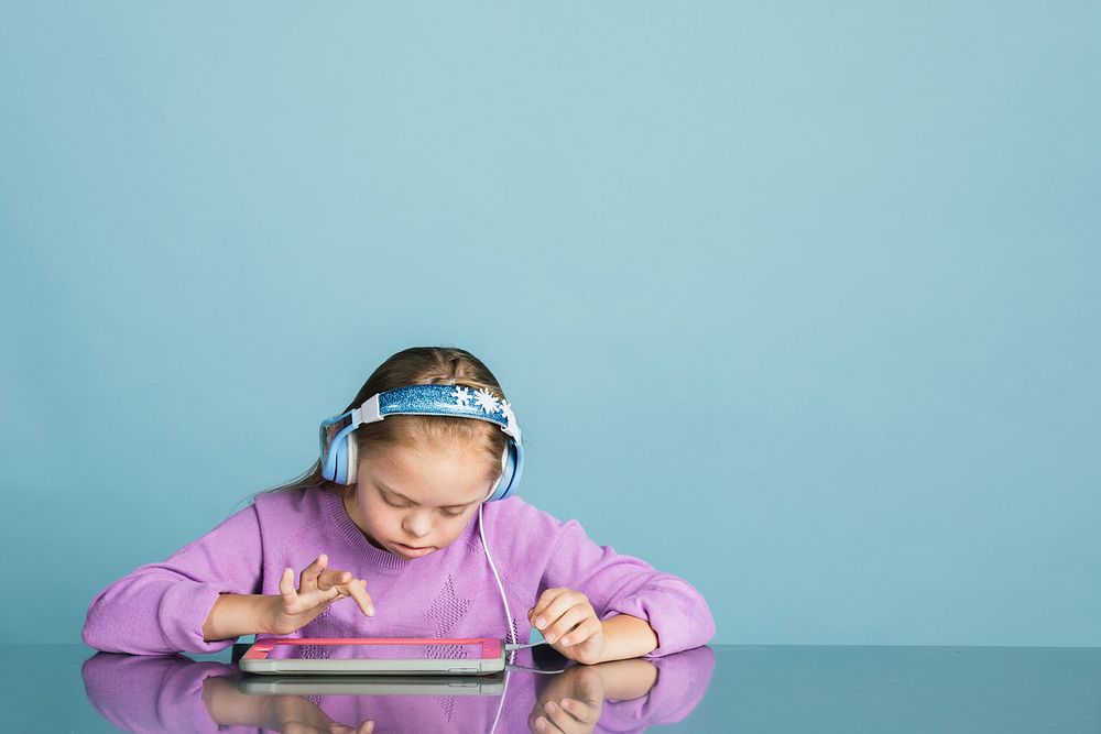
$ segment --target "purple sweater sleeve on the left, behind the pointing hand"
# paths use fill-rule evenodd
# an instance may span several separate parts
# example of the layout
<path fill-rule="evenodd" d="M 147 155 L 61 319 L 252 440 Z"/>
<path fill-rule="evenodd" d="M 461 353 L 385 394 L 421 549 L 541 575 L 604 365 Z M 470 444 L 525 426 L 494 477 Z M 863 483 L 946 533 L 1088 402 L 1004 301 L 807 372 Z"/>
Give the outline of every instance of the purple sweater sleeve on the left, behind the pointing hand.
<path fill-rule="evenodd" d="M 160 563 L 141 566 L 88 605 L 84 642 L 107 653 L 216 653 L 233 639 L 205 642 L 203 623 L 222 593 L 261 590 L 260 522 L 250 505 Z"/>

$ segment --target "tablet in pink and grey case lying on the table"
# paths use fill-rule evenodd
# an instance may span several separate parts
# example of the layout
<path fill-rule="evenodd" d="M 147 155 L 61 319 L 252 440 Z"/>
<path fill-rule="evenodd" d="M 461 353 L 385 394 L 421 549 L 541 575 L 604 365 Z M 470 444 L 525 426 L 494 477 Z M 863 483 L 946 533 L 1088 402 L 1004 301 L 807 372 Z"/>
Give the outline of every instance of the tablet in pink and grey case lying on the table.
<path fill-rule="evenodd" d="M 270 637 L 237 665 L 259 675 L 478 676 L 504 670 L 504 653 L 489 637 Z"/>

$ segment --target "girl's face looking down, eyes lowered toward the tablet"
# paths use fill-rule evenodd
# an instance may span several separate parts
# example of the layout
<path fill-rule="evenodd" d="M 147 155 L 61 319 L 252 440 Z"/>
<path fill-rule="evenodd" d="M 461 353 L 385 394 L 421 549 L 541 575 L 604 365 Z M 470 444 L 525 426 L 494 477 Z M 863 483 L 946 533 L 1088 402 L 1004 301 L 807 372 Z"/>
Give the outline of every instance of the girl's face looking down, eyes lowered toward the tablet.
<path fill-rule="evenodd" d="M 361 454 L 345 510 L 371 545 L 402 558 L 447 547 L 478 513 L 497 475 L 470 447 L 392 446 Z"/>

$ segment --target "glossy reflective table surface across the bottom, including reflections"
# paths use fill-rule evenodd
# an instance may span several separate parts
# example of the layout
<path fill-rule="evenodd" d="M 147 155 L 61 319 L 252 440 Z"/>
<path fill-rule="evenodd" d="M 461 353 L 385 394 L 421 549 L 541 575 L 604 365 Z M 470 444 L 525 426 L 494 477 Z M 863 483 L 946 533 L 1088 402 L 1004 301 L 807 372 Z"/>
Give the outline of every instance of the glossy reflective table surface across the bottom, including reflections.
<path fill-rule="evenodd" d="M 0 731 L 1101 734 L 1101 648 L 718 645 L 556 675 L 279 691 L 293 681 L 230 659 L 0 647 Z M 515 664 L 564 665 L 531 651 Z"/>

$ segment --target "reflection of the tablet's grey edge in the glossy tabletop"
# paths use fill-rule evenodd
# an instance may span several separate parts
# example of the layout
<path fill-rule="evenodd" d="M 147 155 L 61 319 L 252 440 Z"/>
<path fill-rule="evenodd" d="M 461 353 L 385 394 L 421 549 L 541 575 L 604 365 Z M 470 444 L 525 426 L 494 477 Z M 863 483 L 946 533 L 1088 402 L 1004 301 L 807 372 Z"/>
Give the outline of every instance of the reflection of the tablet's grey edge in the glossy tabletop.
<path fill-rule="evenodd" d="M 246 676 L 249 695 L 500 695 L 504 673 L 489 676 Z"/>

